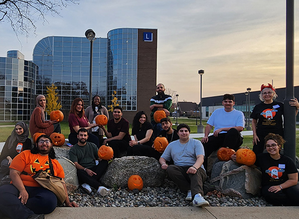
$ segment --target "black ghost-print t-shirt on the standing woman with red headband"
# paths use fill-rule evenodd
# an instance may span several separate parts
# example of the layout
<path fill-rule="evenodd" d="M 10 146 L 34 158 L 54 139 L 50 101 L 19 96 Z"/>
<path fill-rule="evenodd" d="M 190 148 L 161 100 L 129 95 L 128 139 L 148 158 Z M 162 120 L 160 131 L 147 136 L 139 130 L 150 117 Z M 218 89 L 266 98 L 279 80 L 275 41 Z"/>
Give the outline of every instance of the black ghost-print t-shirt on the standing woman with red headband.
<path fill-rule="evenodd" d="M 284 135 L 283 128 L 284 104 L 274 101 L 272 104 L 264 102 L 256 105 L 250 117 L 257 119 L 257 134 L 266 136 L 269 133 Z"/>

